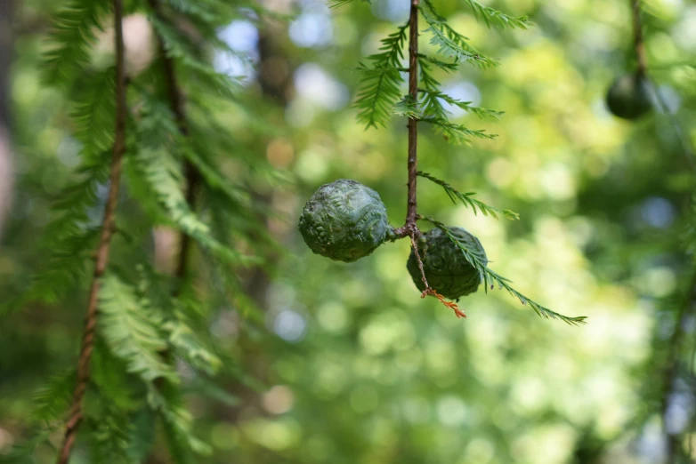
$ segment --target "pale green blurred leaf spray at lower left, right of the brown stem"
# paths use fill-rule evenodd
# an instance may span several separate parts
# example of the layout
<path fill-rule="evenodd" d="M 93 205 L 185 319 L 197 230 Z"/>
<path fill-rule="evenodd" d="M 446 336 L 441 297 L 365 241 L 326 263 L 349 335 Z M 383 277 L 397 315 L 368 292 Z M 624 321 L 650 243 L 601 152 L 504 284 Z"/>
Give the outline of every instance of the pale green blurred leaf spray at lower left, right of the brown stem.
<path fill-rule="evenodd" d="M 166 280 L 146 267 L 139 268 L 137 275 L 136 286 L 112 274 L 104 277 L 100 292 L 101 331 L 109 351 L 125 361 L 128 372 L 137 374 L 145 382 L 149 408 L 163 422 L 173 458 L 177 462 L 192 462 L 191 451 L 206 453 L 209 449 L 192 435 L 192 417 L 182 404 L 179 377 L 166 361 L 171 356 L 181 356 L 193 367 L 208 373 L 214 373 L 221 361 L 187 324 L 184 313 L 176 309 L 181 305 L 180 300 L 167 294 Z M 107 372 L 120 371 L 112 366 L 104 370 Z M 162 380 L 167 381 L 159 383 Z M 117 405 L 116 411 L 129 409 L 127 404 Z M 140 426 L 152 428 L 149 416 L 145 412 L 139 414 Z M 136 422 L 136 426 L 138 424 Z M 123 440 L 122 454 L 126 457 L 142 455 L 148 444 L 151 445 L 147 440 L 138 442 L 136 437 L 140 432 L 130 426 L 115 429 L 120 429 L 121 435 L 104 440 L 103 444 L 113 445 Z"/>

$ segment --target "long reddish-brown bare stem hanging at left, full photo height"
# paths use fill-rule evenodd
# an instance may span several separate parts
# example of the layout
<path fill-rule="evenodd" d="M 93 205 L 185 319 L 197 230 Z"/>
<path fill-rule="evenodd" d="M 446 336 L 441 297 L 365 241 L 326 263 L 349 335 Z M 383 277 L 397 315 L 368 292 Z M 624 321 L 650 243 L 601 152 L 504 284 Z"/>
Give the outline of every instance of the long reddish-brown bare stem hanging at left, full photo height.
<path fill-rule="evenodd" d="M 97 324 L 97 302 L 101 276 L 109 264 L 109 249 L 111 236 L 113 235 L 116 222 L 116 206 L 118 203 L 118 188 L 121 180 L 121 168 L 125 153 L 125 48 L 123 42 L 123 5 L 122 0 L 113 0 L 114 5 L 114 30 L 115 49 L 116 49 L 116 128 L 113 146 L 113 157 L 111 158 L 111 169 L 109 174 L 109 197 L 104 207 L 104 217 L 101 222 L 101 235 L 99 247 L 97 248 L 96 260 L 94 263 L 94 273 L 92 286 L 90 288 L 89 300 L 87 302 L 87 313 L 85 316 L 85 330 L 82 336 L 82 348 L 77 363 L 77 383 L 73 392 L 72 405 L 70 406 L 69 420 L 65 426 L 65 436 L 58 455 L 58 464 L 67 464 L 70 460 L 70 452 L 75 444 L 77 428 L 83 419 L 82 403 L 85 397 L 85 390 L 89 382 L 90 359 L 94 348 L 94 336 Z"/>

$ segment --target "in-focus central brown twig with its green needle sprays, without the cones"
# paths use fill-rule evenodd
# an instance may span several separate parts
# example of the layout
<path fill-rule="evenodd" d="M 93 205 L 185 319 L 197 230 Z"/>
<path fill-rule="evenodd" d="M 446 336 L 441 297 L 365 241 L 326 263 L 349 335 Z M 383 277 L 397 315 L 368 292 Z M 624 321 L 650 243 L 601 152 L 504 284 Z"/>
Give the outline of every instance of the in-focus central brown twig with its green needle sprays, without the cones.
<path fill-rule="evenodd" d="M 335 4 L 347 4 L 352 0 L 336 0 Z M 423 4 L 421 4 L 421 1 Z M 526 17 L 514 18 L 503 12 L 498 12 L 490 7 L 484 7 L 473 0 L 468 1 L 469 6 L 478 20 L 482 20 L 486 25 L 496 24 L 506 28 L 527 28 L 531 25 Z M 498 210 L 484 204 L 481 201 L 474 199 L 473 192 L 461 193 L 457 189 L 449 185 L 444 180 L 439 180 L 427 172 L 418 171 L 417 169 L 417 124 L 424 122 L 435 126 L 436 132 L 445 134 L 445 140 L 451 143 L 468 143 L 473 139 L 493 139 L 494 134 L 486 133 L 482 130 L 472 130 L 463 125 L 451 123 L 449 121 L 449 112 L 443 106 L 443 103 L 455 105 L 458 108 L 465 109 L 479 117 L 498 118 L 502 115 L 499 111 L 493 111 L 486 108 L 474 107 L 471 102 L 459 101 L 441 92 L 440 83 L 431 74 L 431 69 L 434 67 L 440 68 L 445 72 L 452 72 L 459 68 L 460 64 L 466 63 L 477 68 L 490 68 L 496 65 L 496 61 L 484 56 L 481 52 L 476 51 L 465 36 L 459 34 L 456 30 L 447 24 L 447 20 L 436 12 L 432 0 L 411 0 L 410 1 L 409 21 L 399 28 L 396 32 L 390 34 L 382 40 L 382 47 L 379 53 L 371 55 L 368 60 L 371 66 L 360 65 L 361 87 L 358 92 L 358 98 L 354 106 L 360 110 L 358 120 L 369 127 L 384 126 L 389 120 L 389 116 L 393 114 L 407 116 L 409 118 L 409 156 L 407 160 L 409 181 L 407 192 L 407 212 L 404 225 L 400 228 L 394 228 L 390 240 L 409 237 L 411 248 L 414 257 L 417 261 L 417 268 L 424 284 L 425 290 L 421 293 L 421 298 L 425 296 L 433 296 L 441 301 L 447 308 L 454 310 L 457 317 L 465 317 L 465 314 L 457 308 L 457 304 L 445 300 L 445 298 L 436 292 L 436 289 L 428 284 L 425 277 L 425 266 L 421 260 L 420 252 L 418 252 L 417 244 L 421 236 L 420 229 L 417 227 L 417 220 L 430 220 L 428 216 L 420 216 L 417 213 L 417 192 L 416 184 L 417 177 L 423 177 L 431 180 L 434 183 L 444 188 L 445 192 L 453 202 L 460 202 L 466 207 L 473 209 L 473 212 L 482 212 L 484 215 L 490 215 L 498 218 L 498 214 L 505 216 L 508 219 L 517 219 L 517 214 L 509 210 Z M 429 28 L 425 29 L 426 33 L 430 33 L 431 44 L 439 47 L 438 53 L 445 58 L 453 61 L 443 61 L 438 58 L 429 57 L 418 52 L 418 15 L 422 14 L 425 23 Z M 406 29 L 409 29 L 409 92 L 399 99 L 400 88 L 403 79 L 401 73 L 405 68 L 401 66 L 403 58 L 403 43 L 406 40 Z M 418 80 L 421 80 L 422 86 L 418 86 Z M 418 101 L 418 94 L 423 94 L 423 100 Z M 432 221 L 432 220 L 431 220 Z M 446 228 L 442 223 L 434 223 L 437 227 Z M 471 253 L 465 249 L 462 244 L 454 240 L 454 236 L 449 235 L 449 238 L 455 242 L 457 247 L 464 254 L 474 268 L 477 268 L 482 276 L 482 281 L 485 287 L 490 284 L 498 284 L 501 288 L 505 288 L 513 294 L 522 304 L 529 303 L 529 306 L 537 312 L 539 316 L 547 319 L 560 319 L 568 324 L 577 325 L 584 324 L 585 317 L 569 317 L 555 313 L 551 309 L 545 308 L 538 303 L 529 300 L 520 292 L 514 290 L 508 283 L 510 282 L 503 276 L 494 273 L 482 263 L 472 262 Z"/>

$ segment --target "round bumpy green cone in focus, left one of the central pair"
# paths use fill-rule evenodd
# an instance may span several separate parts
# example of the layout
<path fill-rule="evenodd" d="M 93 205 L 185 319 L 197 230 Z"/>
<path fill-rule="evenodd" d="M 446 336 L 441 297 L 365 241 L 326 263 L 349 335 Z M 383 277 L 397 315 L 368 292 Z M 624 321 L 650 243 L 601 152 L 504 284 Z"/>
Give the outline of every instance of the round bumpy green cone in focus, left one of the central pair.
<path fill-rule="evenodd" d="M 340 179 L 314 192 L 304 205 L 299 229 L 312 252 L 352 262 L 384 243 L 389 224 L 375 190 Z"/>

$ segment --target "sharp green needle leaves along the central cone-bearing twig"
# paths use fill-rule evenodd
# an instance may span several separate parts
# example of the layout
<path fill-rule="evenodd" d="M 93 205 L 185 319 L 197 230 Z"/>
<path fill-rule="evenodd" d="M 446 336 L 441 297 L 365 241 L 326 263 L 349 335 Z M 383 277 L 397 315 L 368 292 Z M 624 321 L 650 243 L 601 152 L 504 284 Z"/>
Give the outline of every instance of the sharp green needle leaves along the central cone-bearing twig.
<path fill-rule="evenodd" d="M 487 26 L 491 23 L 509 28 L 528 28 L 531 23 L 526 17 L 514 18 L 497 10 L 485 7 L 473 0 L 467 0 L 469 6 L 473 8 L 477 18 L 484 20 Z M 374 66 L 367 68 L 362 66 L 360 70 L 363 73 L 363 87 L 359 93 L 356 105 L 361 109 L 358 115 L 358 120 L 370 126 L 376 127 L 376 121 L 380 125 L 385 125 L 390 114 L 400 116 L 408 116 L 418 122 L 432 124 L 436 132 L 440 132 L 445 136 L 446 140 L 455 144 L 468 144 L 473 139 L 490 140 L 495 139 L 495 134 L 487 133 L 483 130 L 472 130 L 464 125 L 452 123 L 449 121 L 449 113 L 445 110 L 442 102 L 450 105 L 455 105 L 465 111 L 474 113 L 479 117 L 493 117 L 499 119 L 502 113 L 484 108 L 476 108 L 470 102 L 459 101 L 449 97 L 449 95 L 441 92 L 440 83 L 433 77 L 431 67 L 434 65 L 446 72 L 457 70 L 458 64 L 462 61 L 468 62 L 478 68 L 491 68 L 496 66 L 496 62 L 482 55 L 469 44 L 469 39 L 456 30 L 451 28 L 445 18 L 440 16 L 435 10 L 431 0 L 424 0 L 425 5 L 420 5 L 418 10 L 425 19 L 429 28 L 425 32 L 432 34 L 430 43 L 438 47 L 438 53 L 445 58 L 454 59 L 454 63 L 442 61 L 426 56 L 425 54 L 417 54 L 416 59 L 420 65 L 419 81 L 422 87 L 418 88 L 418 93 L 424 94 L 422 101 L 417 100 L 412 94 L 403 96 L 398 100 L 399 91 L 401 88 L 401 68 L 400 60 L 403 59 L 402 48 L 406 38 L 406 31 L 409 29 L 410 22 L 398 28 L 396 32 L 388 36 L 383 41 L 382 50 L 384 52 L 370 57 L 373 60 Z M 385 91 L 383 89 L 385 85 Z M 397 102 L 398 100 L 398 102 Z M 391 109 L 391 111 L 389 111 Z M 453 203 L 457 200 L 466 207 L 473 209 L 473 212 L 481 211 L 484 215 L 491 215 L 498 218 L 498 213 L 503 214 L 508 219 L 517 219 L 517 214 L 509 210 L 498 210 L 487 204 L 473 199 L 473 193 L 462 194 L 455 188 L 452 188 L 449 183 L 434 178 L 426 172 L 417 172 L 417 175 L 425 179 L 432 180 L 440 185 L 447 192 L 449 199 Z M 563 322 L 571 325 L 582 324 L 585 317 L 568 317 L 562 316 L 551 309 L 539 305 L 537 302 L 528 299 L 522 293 L 517 292 L 508 283 L 510 282 L 505 277 L 499 276 L 487 266 L 487 262 L 482 261 L 478 255 L 471 252 L 467 245 L 453 235 L 448 228 L 441 222 L 433 220 L 429 216 L 419 216 L 421 219 L 432 222 L 443 232 L 447 234 L 449 239 L 457 244 L 457 247 L 464 254 L 467 261 L 481 273 L 483 284 L 489 285 L 498 284 L 502 289 L 505 288 L 514 297 L 519 299 L 522 304 L 530 304 L 530 307 L 542 317 L 550 319 L 561 319 Z M 412 266 L 410 270 L 415 272 L 416 267 Z M 414 277 L 417 282 L 417 277 Z"/>

